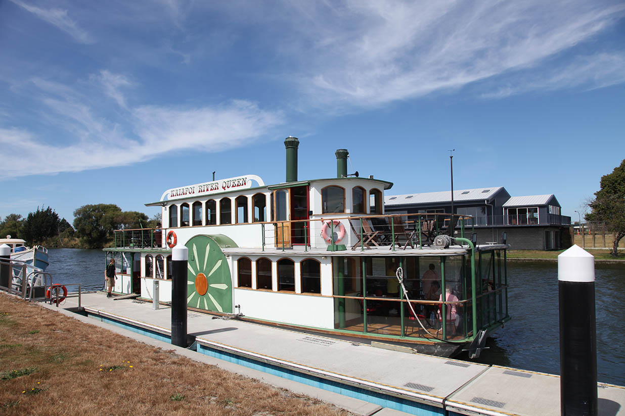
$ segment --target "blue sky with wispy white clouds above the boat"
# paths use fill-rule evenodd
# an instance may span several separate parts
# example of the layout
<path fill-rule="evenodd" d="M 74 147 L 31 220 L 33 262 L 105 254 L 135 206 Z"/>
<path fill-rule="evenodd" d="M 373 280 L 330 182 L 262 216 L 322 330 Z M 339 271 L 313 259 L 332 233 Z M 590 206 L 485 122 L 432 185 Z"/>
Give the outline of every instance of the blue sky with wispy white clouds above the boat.
<path fill-rule="evenodd" d="M 204 4 L 206 3 L 206 4 Z M 622 1 L 0 2 L 0 216 L 336 174 L 577 218 L 625 158 Z M 351 170 L 351 167 L 348 169 Z"/>

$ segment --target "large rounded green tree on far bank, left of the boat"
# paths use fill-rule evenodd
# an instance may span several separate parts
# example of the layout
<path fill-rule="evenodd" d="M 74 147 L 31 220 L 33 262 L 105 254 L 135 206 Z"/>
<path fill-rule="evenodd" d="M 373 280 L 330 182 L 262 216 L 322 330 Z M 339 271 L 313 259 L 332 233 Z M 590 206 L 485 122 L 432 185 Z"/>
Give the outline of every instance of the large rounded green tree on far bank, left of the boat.
<path fill-rule="evenodd" d="M 113 238 L 121 220 L 121 208 L 114 204 L 83 205 L 74 211 L 74 228 L 81 243 L 89 248 L 102 248 Z"/>

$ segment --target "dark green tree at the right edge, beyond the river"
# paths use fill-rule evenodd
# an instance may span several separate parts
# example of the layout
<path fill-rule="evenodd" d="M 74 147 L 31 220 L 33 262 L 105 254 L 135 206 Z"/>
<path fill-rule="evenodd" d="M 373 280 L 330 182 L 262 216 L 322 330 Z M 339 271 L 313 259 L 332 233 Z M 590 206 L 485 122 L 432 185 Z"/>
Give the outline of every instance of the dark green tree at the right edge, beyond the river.
<path fill-rule="evenodd" d="M 612 256 L 616 256 L 619 241 L 625 236 L 625 160 L 601 177 L 601 189 L 594 193 L 589 206 L 592 212 L 586 214 L 586 220 L 606 223 L 607 230 L 614 233 Z"/>

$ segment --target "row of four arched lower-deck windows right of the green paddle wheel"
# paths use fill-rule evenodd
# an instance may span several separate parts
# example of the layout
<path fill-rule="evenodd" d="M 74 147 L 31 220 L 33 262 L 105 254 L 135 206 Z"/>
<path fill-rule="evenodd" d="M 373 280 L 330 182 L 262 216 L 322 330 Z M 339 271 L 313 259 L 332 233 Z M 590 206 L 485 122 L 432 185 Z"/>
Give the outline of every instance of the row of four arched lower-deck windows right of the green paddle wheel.
<path fill-rule="evenodd" d="M 291 259 L 279 259 L 276 262 L 277 291 L 295 292 L 295 263 Z M 301 276 L 301 293 L 321 293 L 321 263 L 314 259 L 302 260 L 299 263 Z M 253 288 L 252 279 L 256 280 L 256 289 L 273 291 L 273 272 L 271 260 L 256 260 L 256 273 L 252 276 L 252 261 L 242 257 L 237 261 L 237 286 Z"/>

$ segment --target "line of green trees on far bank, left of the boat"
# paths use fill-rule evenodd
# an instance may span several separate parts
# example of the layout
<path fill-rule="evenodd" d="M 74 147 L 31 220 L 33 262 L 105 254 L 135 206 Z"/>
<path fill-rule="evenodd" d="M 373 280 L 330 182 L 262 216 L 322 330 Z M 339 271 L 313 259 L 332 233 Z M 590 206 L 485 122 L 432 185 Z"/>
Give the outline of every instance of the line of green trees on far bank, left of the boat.
<path fill-rule="evenodd" d="M 26 218 L 9 214 L 0 221 L 0 238 L 26 240 L 32 246 L 103 248 L 113 241 L 113 230 L 156 228 L 161 226 L 160 214 L 153 218 L 138 211 L 122 211 L 114 204 L 83 205 L 74 211 L 71 225 L 49 206 L 29 213 Z"/>

